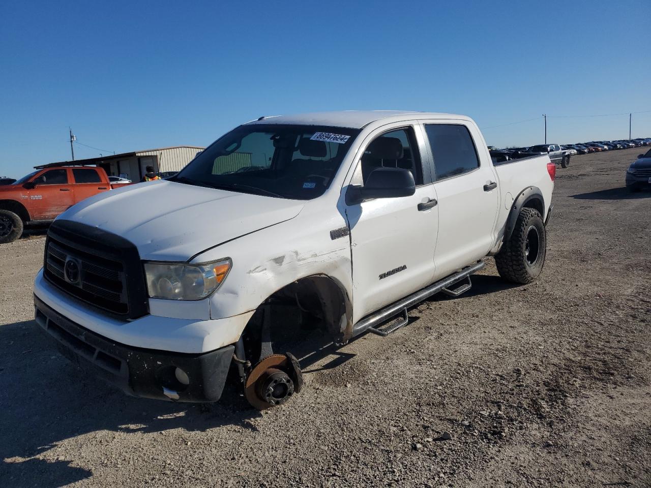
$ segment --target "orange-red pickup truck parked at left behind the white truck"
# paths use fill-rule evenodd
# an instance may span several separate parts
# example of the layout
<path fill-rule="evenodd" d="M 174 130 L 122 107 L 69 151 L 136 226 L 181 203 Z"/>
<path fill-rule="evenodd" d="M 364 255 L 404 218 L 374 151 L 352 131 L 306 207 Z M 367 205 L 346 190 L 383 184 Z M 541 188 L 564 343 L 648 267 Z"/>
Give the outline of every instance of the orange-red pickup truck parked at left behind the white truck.
<path fill-rule="evenodd" d="M 18 239 L 26 224 L 49 223 L 77 202 L 111 187 L 102 168 L 36 167 L 11 185 L 0 186 L 0 243 Z"/>

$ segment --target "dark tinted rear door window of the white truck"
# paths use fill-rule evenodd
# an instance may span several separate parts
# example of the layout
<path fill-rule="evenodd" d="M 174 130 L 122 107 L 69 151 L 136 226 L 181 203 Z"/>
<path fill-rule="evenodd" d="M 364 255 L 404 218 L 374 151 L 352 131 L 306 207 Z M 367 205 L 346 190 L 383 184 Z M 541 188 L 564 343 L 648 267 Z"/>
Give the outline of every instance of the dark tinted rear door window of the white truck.
<path fill-rule="evenodd" d="M 479 167 L 477 150 L 468 129 L 453 124 L 426 124 L 432 148 L 436 180 L 470 172 Z"/>

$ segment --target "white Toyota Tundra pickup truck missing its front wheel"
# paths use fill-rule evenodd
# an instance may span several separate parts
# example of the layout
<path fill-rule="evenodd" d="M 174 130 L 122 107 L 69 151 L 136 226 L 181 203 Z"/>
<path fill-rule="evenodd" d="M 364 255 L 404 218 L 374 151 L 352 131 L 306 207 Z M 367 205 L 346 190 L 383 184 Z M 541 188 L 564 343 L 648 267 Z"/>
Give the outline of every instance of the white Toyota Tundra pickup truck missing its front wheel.
<path fill-rule="evenodd" d="M 345 111 L 268 116 L 176 176 L 87 198 L 48 231 L 36 323 L 85 371 L 135 396 L 258 409 L 301 389 L 283 327 L 336 346 L 409 308 L 542 271 L 555 165 L 494 165 L 471 118 Z M 321 333 L 314 329 L 314 333 Z"/>

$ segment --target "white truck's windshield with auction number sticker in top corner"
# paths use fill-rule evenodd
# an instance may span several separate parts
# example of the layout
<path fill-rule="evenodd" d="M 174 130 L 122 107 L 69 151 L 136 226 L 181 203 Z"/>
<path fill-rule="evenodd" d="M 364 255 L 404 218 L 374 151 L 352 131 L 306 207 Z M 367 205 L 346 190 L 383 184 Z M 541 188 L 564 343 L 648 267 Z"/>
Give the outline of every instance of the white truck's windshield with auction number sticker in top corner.
<path fill-rule="evenodd" d="M 251 124 L 201 152 L 173 182 L 311 200 L 329 187 L 359 129 Z"/>

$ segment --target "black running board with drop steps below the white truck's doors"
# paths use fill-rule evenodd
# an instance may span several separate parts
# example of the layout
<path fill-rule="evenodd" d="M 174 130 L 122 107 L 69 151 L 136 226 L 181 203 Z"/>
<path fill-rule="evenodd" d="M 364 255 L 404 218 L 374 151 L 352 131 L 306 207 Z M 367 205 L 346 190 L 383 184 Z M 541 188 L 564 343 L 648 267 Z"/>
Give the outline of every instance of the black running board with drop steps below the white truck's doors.
<path fill-rule="evenodd" d="M 424 299 L 427 299 L 432 295 L 436 295 L 436 293 L 439 293 L 439 291 L 443 291 L 444 289 L 450 290 L 450 286 L 460 282 L 461 280 L 464 280 L 465 278 L 468 278 L 470 275 L 473 275 L 474 273 L 477 273 L 477 271 L 482 269 L 482 267 L 484 267 L 485 265 L 486 263 L 484 263 L 483 261 L 478 261 L 473 265 L 466 266 L 461 271 L 454 273 L 454 275 L 450 275 L 447 278 L 443 278 L 442 280 L 432 283 L 430 284 L 430 286 L 426 286 L 425 288 L 422 288 L 421 290 L 416 291 L 415 293 L 411 293 L 411 295 L 408 295 L 403 299 L 400 299 L 392 303 L 391 305 L 386 306 L 381 310 L 378 310 L 378 312 L 366 316 L 365 318 L 357 322 L 355 325 L 353 325 L 352 336 L 353 337 L 359 336 L 359 334 L 361 334 L 362 332 L 365 332 L 370 328 L 375 328 L 376 326 L 387 321 L 388 319 L 395 317 L 398 313 L 402 312 L 403 309 L 406 312 L 406 310 L 409 307 L 414 306 L 417 303 L 421 303 Z M 466 285 L 467 283 L 464 284 L 463 286 Z M 459 288 L 463 288 L 463 286 L 456 288 L 456 290 L 458 290 Z M 450 290 L 450 291 L 454 292 L 456 290 Z M 461 293 L 463 293 L 463 291 Z M 403 327 L 404 325 L 407 325 L 407 321 L 404 319 L 398 323 L 400 323 L 401 325 L 393 329 L 393 331 L 400 329 L 400 327 Z M 390 327 L 387 327 L 387 329 L 374 329 L 371 332 L 374 332 L 375 334 L 379 334 L 379 335 L 387 335 L 393 331 L 387 332 L 387 334 L 382 334 L 380 331 L 385 332 L 388 329 L 392 329 L 394 326 L 395 324 L 391 325 Z"/>

